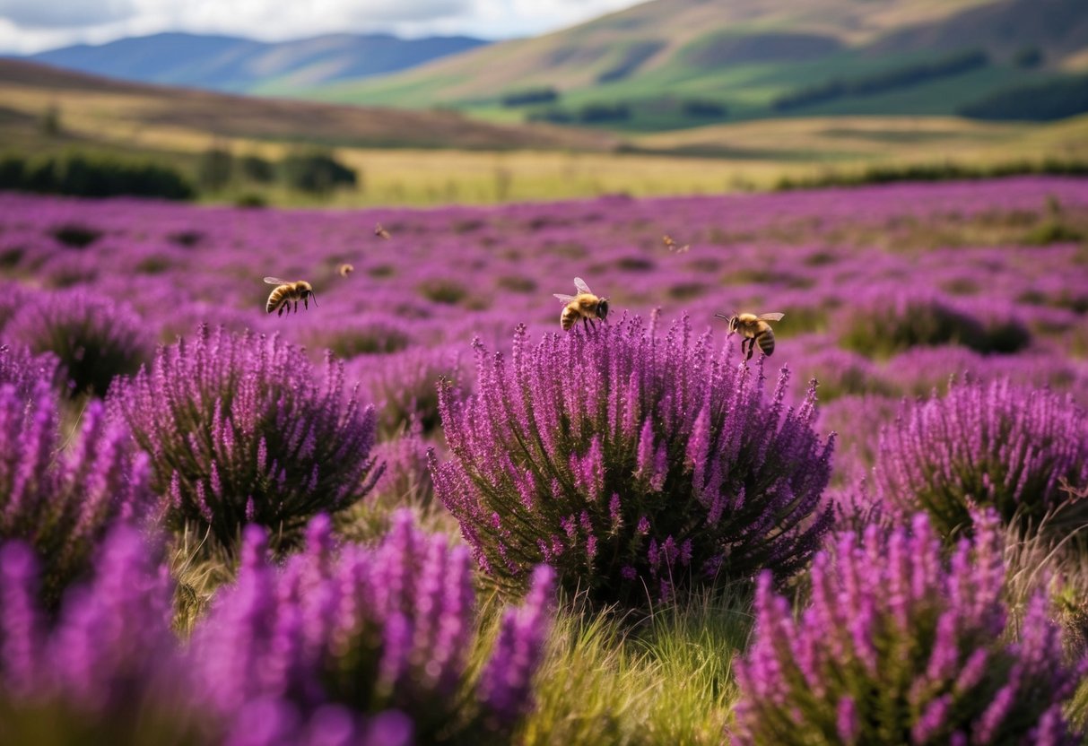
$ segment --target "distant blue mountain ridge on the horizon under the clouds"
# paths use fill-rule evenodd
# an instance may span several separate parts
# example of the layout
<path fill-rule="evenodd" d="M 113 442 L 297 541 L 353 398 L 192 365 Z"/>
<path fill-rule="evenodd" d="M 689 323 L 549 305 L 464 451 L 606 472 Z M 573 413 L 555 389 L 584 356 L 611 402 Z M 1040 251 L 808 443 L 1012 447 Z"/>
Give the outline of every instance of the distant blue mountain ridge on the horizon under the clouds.
<path fill-rule="evenodd" d="M 466 36 L 331 34 L 270 42 L 168 33 L 64 47 L 26 59 L 138 83 L 274 92 L 279 86 L 300 88 L 399 72 L 486 43 Z"/>

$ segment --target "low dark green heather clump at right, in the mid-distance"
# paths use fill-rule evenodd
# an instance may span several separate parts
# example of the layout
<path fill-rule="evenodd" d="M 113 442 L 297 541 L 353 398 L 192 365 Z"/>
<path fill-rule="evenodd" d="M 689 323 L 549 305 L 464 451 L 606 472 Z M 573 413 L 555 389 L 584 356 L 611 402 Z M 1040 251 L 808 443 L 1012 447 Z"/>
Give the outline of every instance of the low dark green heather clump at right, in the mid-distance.
<path fill-rule="evenodd" d="M 1031 335 L 1012 318 L 979 319 L 936 295 L 875 294 L 838 322 L 840 344 L 887 358 L 915 346 L 962 345 L 979 352 L 1015 352 Z"/>

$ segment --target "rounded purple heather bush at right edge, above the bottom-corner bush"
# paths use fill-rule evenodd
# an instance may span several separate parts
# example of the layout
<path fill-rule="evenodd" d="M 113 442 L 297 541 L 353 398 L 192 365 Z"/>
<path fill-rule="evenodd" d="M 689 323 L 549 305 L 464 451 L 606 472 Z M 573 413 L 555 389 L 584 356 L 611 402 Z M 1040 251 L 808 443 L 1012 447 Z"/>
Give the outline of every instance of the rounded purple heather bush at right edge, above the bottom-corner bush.
<path fill-rule="evenodd" d="M 1068 396 L 1006 380 L 965 382 L 905 411 L 880 436 L 876 497 L 927 511 L 945 536 L 970 524 L 972 503 L 1004 521 L 1038 521 L 1065 500 L 1062 478 L 1088 484 L 1088 413 Z M 1088 522 L 1088 503 L 1066 513 Z"/>

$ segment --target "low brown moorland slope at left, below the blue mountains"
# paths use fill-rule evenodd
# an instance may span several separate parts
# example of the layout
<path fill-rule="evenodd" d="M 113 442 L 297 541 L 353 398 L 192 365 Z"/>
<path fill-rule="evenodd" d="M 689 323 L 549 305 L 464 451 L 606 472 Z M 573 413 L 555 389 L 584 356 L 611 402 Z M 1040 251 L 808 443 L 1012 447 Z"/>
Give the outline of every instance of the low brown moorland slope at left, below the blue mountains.
<path fill-rule="evenodd" d="M 235 96 L 0 60 L 0 110 L 30 125 L 49 109 L 70 137 L 149 150 L 217 139 L 345 147 L 607 150 L 615 138 L 547 125 L 507 126 L 454 111 L 408 111 Z M 25 128 L 25 127 L 24 127 Z M 3 130 L 0 130 L 3 134 Z M 12 141 L 11 136 L 0 141 Z"/>

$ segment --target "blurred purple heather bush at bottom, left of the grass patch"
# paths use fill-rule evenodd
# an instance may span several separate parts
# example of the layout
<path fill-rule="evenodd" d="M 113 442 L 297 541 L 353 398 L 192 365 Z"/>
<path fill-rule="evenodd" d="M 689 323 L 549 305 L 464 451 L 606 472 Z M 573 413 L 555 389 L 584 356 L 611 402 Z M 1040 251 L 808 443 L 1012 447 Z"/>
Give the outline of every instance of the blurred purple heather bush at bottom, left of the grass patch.
<path fill-rule="evenodd" d="M 543 650 L 551 570 L 537 570 L 526 606 L 507 612 L 472 704 L 458 696 L 474 636 L 468 550 L 417 530 L 407 511 L 375 548 L 336 551 L 330 526 L 313 519 L 305 551 L 282 570 L 265 562 L 264 532 L 246 529 L 237 585 L 220 592 L 193 638 L 217 706 L 271 699 L 304 717 L 330 704 L 398 709 L 423 742 L 512 725 Z"/>

